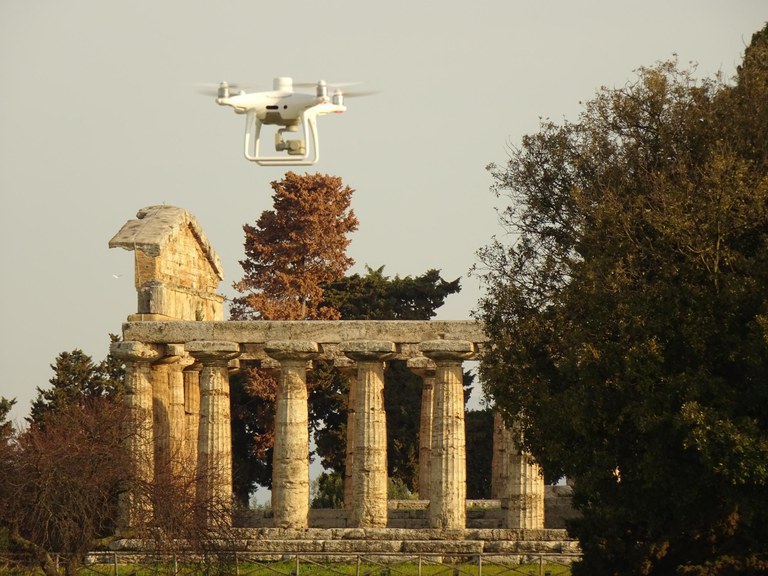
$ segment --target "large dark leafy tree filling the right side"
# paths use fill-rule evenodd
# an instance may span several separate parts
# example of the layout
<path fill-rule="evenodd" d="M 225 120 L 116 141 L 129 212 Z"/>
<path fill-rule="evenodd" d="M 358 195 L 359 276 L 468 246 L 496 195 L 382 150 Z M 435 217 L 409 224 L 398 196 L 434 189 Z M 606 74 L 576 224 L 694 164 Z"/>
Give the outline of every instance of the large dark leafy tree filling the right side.
<path fill-rule="evenodd" d="M 490 167 L 481 379 L 575 482 L 575 574 L 768 570 L 767 40 L 733 87 L 644 68 Z"/>

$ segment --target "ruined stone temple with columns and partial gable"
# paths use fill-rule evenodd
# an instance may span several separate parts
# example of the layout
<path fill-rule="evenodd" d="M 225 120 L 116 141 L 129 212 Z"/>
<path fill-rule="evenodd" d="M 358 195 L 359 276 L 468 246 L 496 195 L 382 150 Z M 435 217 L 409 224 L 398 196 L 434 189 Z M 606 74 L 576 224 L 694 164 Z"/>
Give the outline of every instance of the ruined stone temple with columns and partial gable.
<path fill-rule="evenodd" d="M 125 362 L 125 398 L 141 431 L 129 447 L 139 478 L 181 474 L 182 461 L 202 471 L 198 498 L 231 503 L 229 374 L 240 361 L 259 361 L 279 373 L 271 515 L 229 513 L 234 526 L 259 527 L 259 541 L 293 538 L 328 547 L 342 539 L 345 550 L 355 541 L 361 551 L 372 542 L 379 548 L 389 542 L 396 551 L 406 541 L 412 547 L 430 541 L 433 548 L 474 542 L 479 551 L 575 550 L 557 529 L 568 498 L 562 490 L 545 490 L 538 467 L 500 418 L 494 425 L 496 499 L 466 499 L 462 363 L 485 344 L 476 322 L 224 321 L 219 258 L 197 220 L 172 206 L 140 210 L 109 246 L 133 251 L 135 258 L 138 310 L 111 351 Z M 309 507 L 306 373 L 316 359 L 332 360 L 350 377 L 343 510 Z M 387 501 L 383 394 L 392 359 L 407 360 L 423 378 L 423 500 L 407 505 Z M 152 515 L 149 499 L 138 493 L 125 494 L 120 510 L 123 529 Z"/>

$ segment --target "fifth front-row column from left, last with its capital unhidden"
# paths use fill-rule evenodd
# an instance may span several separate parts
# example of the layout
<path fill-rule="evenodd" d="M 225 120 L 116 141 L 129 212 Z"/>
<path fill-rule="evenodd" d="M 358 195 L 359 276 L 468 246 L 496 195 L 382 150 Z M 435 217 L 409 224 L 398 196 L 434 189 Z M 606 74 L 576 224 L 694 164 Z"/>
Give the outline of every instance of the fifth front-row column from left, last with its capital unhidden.
<path fill-rule="evenodd" d="M 419 349 L 435 361 L 429 525 L 464 529 L 467 463 L 461 364 L 474 355 L 475 346 L 463 340 L 430 340 Z"/>

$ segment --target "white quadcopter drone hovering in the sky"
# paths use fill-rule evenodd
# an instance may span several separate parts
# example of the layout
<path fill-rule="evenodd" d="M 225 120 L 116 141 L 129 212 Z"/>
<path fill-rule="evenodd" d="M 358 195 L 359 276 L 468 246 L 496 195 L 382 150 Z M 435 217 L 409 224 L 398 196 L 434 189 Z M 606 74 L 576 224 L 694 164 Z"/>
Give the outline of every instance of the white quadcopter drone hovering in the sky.
<path fill-rule="evenodd" d="M 245 114 L 243 153 L 246 159 L 261 166 L 309 166 L 320 159 L 317 117 L 341 114 L 347 110 L 344 94 L 324 80 L 297 87 L 315 87 L 314 94 L 294 92 L 293 79 L 275 78 L 268 92 L 246 92 L 239 84 L 219 84 L 216 103 L 231 106 L 236 114 Z M 275 151 L 282 155 L 262 155 L 259 136 L 264 125 L 277 126 Z M 302 133 L 298 138 L 286 138 L 286 133 Z M 308 145 L 308 140 L 311 142 Z"/>

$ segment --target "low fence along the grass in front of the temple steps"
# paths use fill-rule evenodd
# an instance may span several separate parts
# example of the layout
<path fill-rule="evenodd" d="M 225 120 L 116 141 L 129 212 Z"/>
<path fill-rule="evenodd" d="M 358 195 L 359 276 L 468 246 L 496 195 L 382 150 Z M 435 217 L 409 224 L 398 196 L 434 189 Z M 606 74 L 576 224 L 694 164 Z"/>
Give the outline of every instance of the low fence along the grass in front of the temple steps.
<path fill-rule="evenodd" d="M 570 576 L 578 554 L 280 552 L 137 554 L 99 552 L 81 576 Z M 42 574 L 23 555 L 0 556 L 0 574 Z"/>

